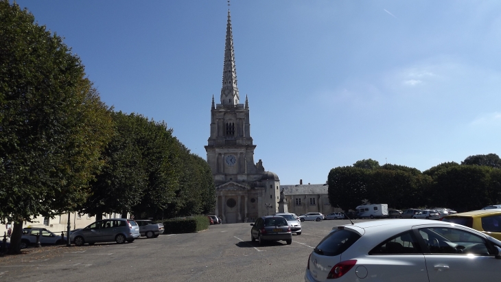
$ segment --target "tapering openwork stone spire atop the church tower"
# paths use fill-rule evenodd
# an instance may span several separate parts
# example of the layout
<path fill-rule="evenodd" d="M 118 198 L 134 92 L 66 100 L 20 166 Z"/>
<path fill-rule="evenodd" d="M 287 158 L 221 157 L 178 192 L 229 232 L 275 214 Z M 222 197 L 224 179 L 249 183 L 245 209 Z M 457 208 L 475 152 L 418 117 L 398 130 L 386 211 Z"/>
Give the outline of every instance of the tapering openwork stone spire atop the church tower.
<path fill-rule="evenodd" d="M 231 33 L 231 16 L 230 10 L 228 9 L 226 43 L 224 44 L 224 67 L 222 69 L 221 104 L 236 105 L 239 99 L 237 70 L 235 69 L 235 51 L 233 50 L 233 35 Z"/>

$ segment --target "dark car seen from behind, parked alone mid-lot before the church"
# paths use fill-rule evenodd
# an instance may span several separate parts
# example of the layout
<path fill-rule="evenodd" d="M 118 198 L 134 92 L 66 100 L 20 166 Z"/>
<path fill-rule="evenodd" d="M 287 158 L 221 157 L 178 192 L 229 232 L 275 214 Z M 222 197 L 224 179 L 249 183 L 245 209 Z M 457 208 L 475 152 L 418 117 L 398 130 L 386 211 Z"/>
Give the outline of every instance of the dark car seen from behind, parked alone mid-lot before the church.
<path fill-rule="evenodd" d="M 256 239 L 259 245 L 264 241 L 285 241 L 288 245 L 292 244 L 292 232 L 287 220 L 280 215 L 268 215 L 258 218 L 250 226 L 250 240 Z"/>

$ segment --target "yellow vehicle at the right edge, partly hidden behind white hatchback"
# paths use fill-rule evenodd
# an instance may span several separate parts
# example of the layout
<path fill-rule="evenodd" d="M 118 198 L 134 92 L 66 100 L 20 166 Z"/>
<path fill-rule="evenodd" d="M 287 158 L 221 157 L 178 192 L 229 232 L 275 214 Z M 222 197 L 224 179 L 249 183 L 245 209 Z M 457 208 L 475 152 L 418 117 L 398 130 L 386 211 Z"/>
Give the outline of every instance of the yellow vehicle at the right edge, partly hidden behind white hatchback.
<path fill-rule="evenodd" d="M 442 221 L 474 228 L 475 230 L 501 240 L 501 209 L 456 213 L 454 215 L 444 216 Z"/>

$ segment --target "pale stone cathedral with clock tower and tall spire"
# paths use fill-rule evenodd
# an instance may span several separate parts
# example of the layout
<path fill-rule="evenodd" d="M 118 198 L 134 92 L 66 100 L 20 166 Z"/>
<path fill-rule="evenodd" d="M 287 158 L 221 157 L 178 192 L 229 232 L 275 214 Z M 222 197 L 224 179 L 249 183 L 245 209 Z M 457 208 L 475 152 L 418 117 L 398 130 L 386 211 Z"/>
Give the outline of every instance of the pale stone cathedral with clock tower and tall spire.
<path fill-rule="evenodd" d="M 211 134 L 205 151 L 215 183 L 215 215 L 223 223 L 253 222 L 279 210 L 280 180 L 254 163 L 248 98 L 240 104 L 235 51 L 228 10 L 220 104 L 212 97 Z"/>

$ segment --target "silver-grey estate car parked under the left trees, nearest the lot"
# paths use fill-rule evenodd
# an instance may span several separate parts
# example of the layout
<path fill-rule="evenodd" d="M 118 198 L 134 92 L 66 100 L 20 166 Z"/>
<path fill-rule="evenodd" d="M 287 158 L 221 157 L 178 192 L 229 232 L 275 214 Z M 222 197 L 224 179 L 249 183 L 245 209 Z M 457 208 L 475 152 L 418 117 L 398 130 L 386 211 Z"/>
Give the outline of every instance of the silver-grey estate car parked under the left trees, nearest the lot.
<path fill-rule="evenodd" d="M 131 243 L 139 235 L 139 226 L 134 220 L 110 218 L 98 220 L 72 233 L 69 238 L 70 242 L 75 243 L 76 246 L 82 246 L 83 244 L 93 245 L 97 242 Z"/>

